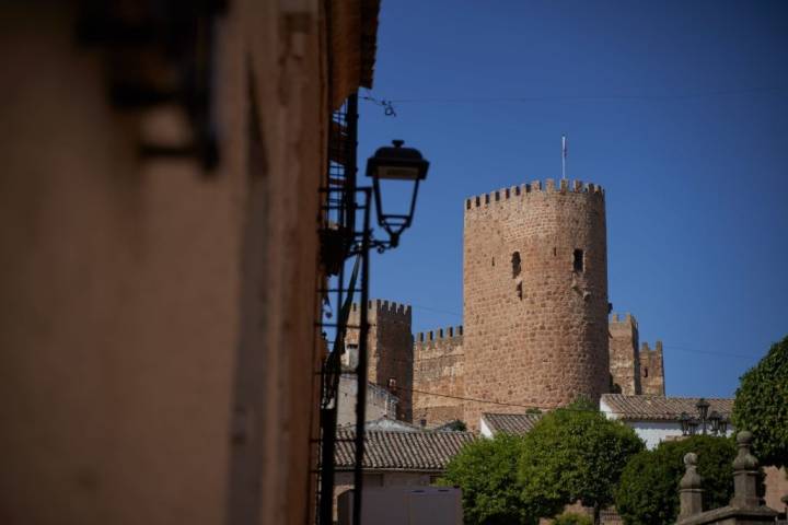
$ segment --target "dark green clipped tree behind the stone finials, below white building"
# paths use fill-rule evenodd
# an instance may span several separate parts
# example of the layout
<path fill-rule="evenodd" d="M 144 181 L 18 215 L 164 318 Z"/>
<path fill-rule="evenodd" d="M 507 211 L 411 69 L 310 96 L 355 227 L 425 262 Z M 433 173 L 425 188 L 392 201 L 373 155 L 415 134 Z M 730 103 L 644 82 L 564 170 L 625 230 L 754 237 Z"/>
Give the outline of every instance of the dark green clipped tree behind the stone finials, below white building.
<path fill-rule="evenodd" d="M 679 515 L 679 481 L 684 455 L 698 456 L 704 509 L 725 506 L 733 492 L 735 445 L 728 438 L 695 435 L 660 443 L 634 456 L 622 472 L 615 505 L 626 525 L 668 525 Z"/>

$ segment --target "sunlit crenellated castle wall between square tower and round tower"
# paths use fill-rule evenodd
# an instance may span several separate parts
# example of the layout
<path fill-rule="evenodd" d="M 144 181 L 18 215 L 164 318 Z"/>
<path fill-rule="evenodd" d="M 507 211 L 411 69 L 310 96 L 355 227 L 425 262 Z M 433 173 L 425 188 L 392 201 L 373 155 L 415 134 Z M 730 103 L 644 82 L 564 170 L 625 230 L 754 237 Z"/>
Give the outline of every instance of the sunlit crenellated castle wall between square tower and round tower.
<path fill-rule="evenodd" d="M 433 427 L 463 419 L 463 327 L 419 332 L 414 342 L 413 420 Z M 436 393 L 440 395 L 430 395 Z"/>

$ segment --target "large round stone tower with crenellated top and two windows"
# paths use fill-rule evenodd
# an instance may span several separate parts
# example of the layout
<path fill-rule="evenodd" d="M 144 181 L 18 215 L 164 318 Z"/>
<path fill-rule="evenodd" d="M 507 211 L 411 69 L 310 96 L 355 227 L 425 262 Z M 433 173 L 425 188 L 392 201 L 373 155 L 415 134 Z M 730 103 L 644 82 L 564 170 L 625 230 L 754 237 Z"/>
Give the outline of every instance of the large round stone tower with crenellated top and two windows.
<path fill-rule="evenodd" d="M 548 179 L 467 199 L 463 256 L 466 423 L 598 402 L 610 386 L 602 188 Z"/>

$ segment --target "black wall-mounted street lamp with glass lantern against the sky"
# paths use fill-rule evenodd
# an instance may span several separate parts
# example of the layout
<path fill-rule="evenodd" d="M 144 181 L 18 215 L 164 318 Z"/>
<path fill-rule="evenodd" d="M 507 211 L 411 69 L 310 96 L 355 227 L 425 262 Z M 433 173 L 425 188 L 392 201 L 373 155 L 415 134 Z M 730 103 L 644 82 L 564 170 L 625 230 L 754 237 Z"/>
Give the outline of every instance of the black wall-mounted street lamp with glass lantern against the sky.
<path fill-rule="evenodd" d="M 374 155 L 367 161 L 367 176 L 372 177 L 378 224 L 389 233 L 389 247 L 396 247 L 399 244 L 399 234 L 410 226 L 414 210 L 416 209 L 419 183 L 427 178 L 427 170 L 429 168 L 429 162 L 421 156 L 421 153 L 415 148 L 403 148 L 404 143 L 402 140 L 393 140 L 393 145 L 379 148 Z M 407 186 L 403 187 L 402 183 L 410 186 L 412 195 L 407 199 L 410 203 L 408 209 L 397 210 L 398 212 L 390 210 L 392 201 L 390 191 L 394 190 L 393 192 L 396 194 L 397 188 L 387 185 L 389 182 L 401 183 L 398 184 L 399 192 L 407 189 Z M 385 206 L 382 195 L 384 183 L 387 186 Z M 390 187 L 391 189 L 389 189 Z M 396 197 L 394 195 L 395 199 Z M 379 246 L 379 249 L 381 249 L 381 246 Z"/>

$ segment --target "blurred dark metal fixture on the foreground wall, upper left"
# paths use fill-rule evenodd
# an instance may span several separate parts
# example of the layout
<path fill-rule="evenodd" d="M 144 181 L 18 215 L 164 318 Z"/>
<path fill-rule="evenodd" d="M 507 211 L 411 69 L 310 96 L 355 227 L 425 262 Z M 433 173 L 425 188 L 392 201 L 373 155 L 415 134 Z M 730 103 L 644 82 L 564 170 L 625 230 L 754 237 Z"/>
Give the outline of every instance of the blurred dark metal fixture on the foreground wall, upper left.
<path fill-rule="evenodd" d="M 220 162 L 216 126 L 216 22 L 227 0 L 79 2 L 77 40 L 104 54 L 107 94 L 120 110 L 181 107 L 189 138 L 141 140 L 150 158 L 194 158 L 207 174 Z"/>

